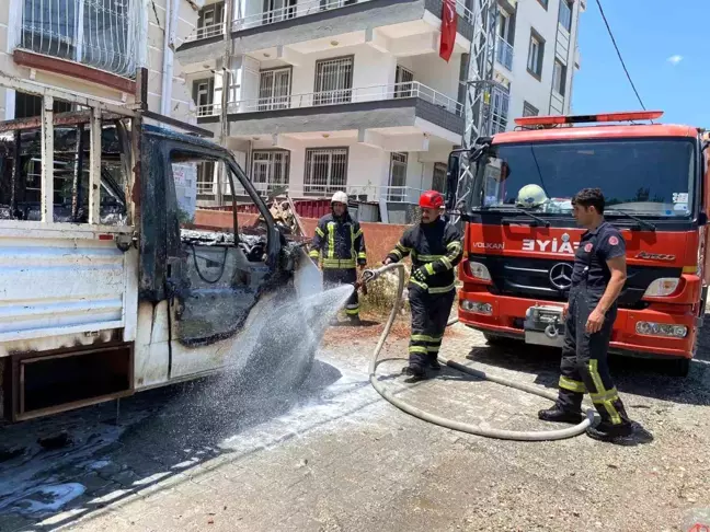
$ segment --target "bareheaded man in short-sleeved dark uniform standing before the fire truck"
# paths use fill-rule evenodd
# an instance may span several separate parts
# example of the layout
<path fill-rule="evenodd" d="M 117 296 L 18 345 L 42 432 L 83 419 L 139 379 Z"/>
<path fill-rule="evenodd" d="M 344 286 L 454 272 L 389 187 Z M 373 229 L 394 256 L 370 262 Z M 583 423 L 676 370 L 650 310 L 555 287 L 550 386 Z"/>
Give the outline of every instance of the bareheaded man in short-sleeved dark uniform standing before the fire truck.
<path fill-rule="evenodd" d="M 574 218 L 587 231 L 574 256 L 558 401 L 552 408 L 540 410 L 539 418 L 580 423 L 582 398 L 589 393 L 602 420 L 589 427 L 587 435 L 602 441 L 635 444 L 643 442 L 637 437 L 652 437 L 629 419 L 607 363 L 617 298 L 627 268 L 623 236 L 604 220 L 604 205 L 598 188 L 585 188 L 572 199 Z"/>

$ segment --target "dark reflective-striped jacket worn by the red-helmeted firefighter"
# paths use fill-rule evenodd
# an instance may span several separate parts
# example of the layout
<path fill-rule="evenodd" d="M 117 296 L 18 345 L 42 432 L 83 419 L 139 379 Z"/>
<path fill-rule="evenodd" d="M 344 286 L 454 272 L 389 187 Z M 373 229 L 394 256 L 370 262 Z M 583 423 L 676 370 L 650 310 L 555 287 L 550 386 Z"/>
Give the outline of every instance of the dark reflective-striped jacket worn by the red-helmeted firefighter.
<path fill-rule="evenodd" d="M 454 268 L 463 257 L 461 233 L 442 218 L 432 223 L 419 223 L 404 234 L 387 255 L 397 263 L 412 257 L 410 284 L 430 293 L 447 293 L 455 288 Z"/>

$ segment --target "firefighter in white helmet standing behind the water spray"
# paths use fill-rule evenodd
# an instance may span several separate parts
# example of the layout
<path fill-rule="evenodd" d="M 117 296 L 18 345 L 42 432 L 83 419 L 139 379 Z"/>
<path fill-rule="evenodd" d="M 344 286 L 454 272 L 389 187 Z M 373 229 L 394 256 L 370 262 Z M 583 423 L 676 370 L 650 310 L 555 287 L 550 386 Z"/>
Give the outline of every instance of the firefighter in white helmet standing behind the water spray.
<path fill-rule="evenodd" d="M 318 221 L 309 255 L 316 264 L 322 255 L 327 287 L 357 282 L 357 268 L 362 270 L 367 264 L 365 236 L 359 223 L 347 211 L 347 194 L 344 192 L 333 194 L 331 213 Z M 345 314 L 352 324 L 360 324 L 357 290 L 345 303 Z"/>

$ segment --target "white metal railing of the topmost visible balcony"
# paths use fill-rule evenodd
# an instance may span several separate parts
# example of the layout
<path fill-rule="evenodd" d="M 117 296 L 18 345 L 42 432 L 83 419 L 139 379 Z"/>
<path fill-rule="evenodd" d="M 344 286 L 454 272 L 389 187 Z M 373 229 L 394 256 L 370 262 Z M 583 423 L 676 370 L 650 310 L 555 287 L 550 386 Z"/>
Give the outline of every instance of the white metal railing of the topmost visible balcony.
<path fill-rule="evenodd" d="M 355 3 L 369 2 L 371 0 L 306 0 L 299 1 L 294 5 L 286 5 L 283 8 L 274 9 L 271 11 L 263 11 L 260 13 L 250 14 L 238 19 L 232 24 L 232 31 L 238 32 L 240 30 L 249 30 L 250 27 L 259 27 L 268 24 L 275 24 L 277 22 L 287 21 L 291 19 L 299 19 L 301 16 L 308 16 L 314 13 L 320 13 L 322 11 L 331 11 L 334 9 L 344 8 L 346 5 L 353 5 Z M 463 2 L 456 2 L 456 11 L 459 16 L 468 21 L 469 23 L 473 22 L 473 12 L 468 9 Z M 435 13 L 437 16 L 440 13 Z M 225 31 L 224 22 L 211 24 L 210 26 L 204 26 L 203 28 L 197 28 L 195 32 L 190 35 L 185 42 L 199 41 L 203 38 L 214 37 L 215 35 L 222 35 Z"/>

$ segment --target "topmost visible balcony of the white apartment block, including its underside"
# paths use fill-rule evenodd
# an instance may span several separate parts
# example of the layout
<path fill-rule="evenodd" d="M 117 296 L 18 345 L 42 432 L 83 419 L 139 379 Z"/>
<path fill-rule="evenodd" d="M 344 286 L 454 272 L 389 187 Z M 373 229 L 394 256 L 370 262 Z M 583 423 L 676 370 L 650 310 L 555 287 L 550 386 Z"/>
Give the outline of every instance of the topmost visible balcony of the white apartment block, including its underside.
<path fill-rule="evenodd" d="M 300 1 L 234 21 L 230 27 L 236 39 L 233 53 L 259 60 L 278 58 L 293 65 L 302 54 L 332 49 L 333 41 L 341 47 L 367 43 L 402 56 L 417 54 L 416 45 L 422 42 L 427 46 L 425 53 L 430 53 L 430 37 L 438 35 L 440 28 L 442 7 L 442 0 Z M 473 37 L 473 13 L 461 1 L 457 1 L 456 9 L 459 19 L 455 53 L 467 54 Z M 196 30 L 182 44 L 178 50 L 182 65 L 206 61 L 224 51 L 224 30 L 220 24 L 214 26 L 210 31 Z"/>

